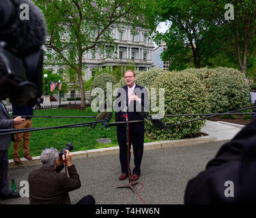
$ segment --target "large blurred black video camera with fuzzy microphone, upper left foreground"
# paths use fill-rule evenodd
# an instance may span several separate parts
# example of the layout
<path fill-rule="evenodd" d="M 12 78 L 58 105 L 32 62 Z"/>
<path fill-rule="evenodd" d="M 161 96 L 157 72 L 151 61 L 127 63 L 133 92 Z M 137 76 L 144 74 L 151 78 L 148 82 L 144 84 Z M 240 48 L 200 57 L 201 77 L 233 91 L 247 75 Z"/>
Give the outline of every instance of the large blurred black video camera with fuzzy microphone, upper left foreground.
<path fill-rule="evenodd" d="M 20 18 L 20 4 L 29 19 Z M 42 67 L 46 24 L 31 0 L 0 1 L 0 100 L 10 98 L 16 107 L 34 106 L 42 95 Z"/>

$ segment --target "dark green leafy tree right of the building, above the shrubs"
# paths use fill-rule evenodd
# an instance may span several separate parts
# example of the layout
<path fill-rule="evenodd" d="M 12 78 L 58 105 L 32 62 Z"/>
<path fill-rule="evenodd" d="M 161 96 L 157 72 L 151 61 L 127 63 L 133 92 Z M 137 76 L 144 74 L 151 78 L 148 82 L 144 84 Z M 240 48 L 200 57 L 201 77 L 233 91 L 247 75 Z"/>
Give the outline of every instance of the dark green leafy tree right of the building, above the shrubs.
<path fill-rule="evenodd" d="M 157 44 L 166 42 L 162 59 L 169 61 L 171 70 L 207 65 L 208 58 L 221 48 L 212 19 L 202 18 L 192 1 L 157 1 L 156 20 L 169 21 L 169 31 L 156 33 L 154 40 Z"/>

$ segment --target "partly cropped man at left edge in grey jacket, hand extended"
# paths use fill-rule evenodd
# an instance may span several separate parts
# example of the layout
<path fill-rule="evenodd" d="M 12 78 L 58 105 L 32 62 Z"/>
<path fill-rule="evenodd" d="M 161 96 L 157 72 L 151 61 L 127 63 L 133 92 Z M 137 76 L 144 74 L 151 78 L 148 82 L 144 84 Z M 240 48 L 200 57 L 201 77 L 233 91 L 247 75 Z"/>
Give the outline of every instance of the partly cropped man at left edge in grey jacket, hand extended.
<path fill-rule="evenodd" d="M 15 119 L 11 119 L 8 110 L 0 101 L 0 129 L 12 129 L 14 124 L 23 123 L 25 119 L 17 116 Z M 11 140 L 14 140 L 13 135 L 0 136 L 0 199 L 18 198 L 20 194 L 12 192 L 8 185 L 8 149 L 11 144 Z"/>

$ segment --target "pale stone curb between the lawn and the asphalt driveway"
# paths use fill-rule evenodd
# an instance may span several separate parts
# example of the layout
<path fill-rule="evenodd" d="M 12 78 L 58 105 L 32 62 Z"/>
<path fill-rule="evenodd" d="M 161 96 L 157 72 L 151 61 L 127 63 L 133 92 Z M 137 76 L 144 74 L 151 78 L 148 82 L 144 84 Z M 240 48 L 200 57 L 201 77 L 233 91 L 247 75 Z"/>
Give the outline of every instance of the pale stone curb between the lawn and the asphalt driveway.
<path fill-rule="evenodd" d="M 162 149 L 169 146 L 188 146 L 193 144 L 201 144 L 205 142 L 214 142 L 216 137 L 212 136 L 200 136 L 197 138 L 188 138 L 183 140 L 167 140 L 160 142 L 147 142 L 144 143 L 144 151 L 153 150 L 153 149 Z M 132 148 L 131 148 L 132 152 Z M 74 151 L 71 152 L 72 159 L 81 159 L 81 158 L 92 158 L 100 157 L 104 155 L 114 155 L 119 153 L 119 146 L 109 147 L 105 149 L 92 149 L 87 151 Z M 33 166 L 35 164 L 40 164 L 40 156 L 32 157 L 31 160 L 25 158 L 20 158 L 22 163 L 15 163 L 13 159 L 9 159 L 9 168 L 25 168 L 26 166 Z"/>

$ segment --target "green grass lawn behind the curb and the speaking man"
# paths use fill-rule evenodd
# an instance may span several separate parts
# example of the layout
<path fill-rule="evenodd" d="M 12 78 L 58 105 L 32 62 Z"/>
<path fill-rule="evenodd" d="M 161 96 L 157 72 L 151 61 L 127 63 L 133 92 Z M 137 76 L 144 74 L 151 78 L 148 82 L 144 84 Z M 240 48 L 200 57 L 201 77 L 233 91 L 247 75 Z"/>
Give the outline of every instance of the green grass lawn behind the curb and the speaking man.
<path fill-rule="evenodd" d="M 72 109 L 48 109 L 34 110 L 35 116 L 95 116 L 98 112 L 92 112 L 91 108 L 85 110 Z M 32 127 L 54 127 L 58 125 L 68 125 L 75 123 L 85 123 L 95 121 L 88 118 L 33 118 Z M 115 121 L 115 116 L 112 116 L 111 122 Z M 55 147 L 58 150 L 68 143 L 72 142 L 74 149 L 72 151 L 85 151 L 89 149 L 100 149 L 110 146 L 118 146 L 116 127 L 104 128 L 98 124 L 94 129 L 89 131 L 89 127 L 75 127 L 63 129 L 47 129 L 42 131 L 32 131 L 29 142 L 31 156 L 38 156 L 44 148 Z M 97 138 L 109 138 L 111 144 L 100 144 L 96 141 Z M 150 138 L 145 136 L 145 142 L 152 142 Z M 13 142 L 9 149 L 9 159 L 12 159 Z M 20 157 L 23 157 L 22 144 L 20 145 Z"/>

